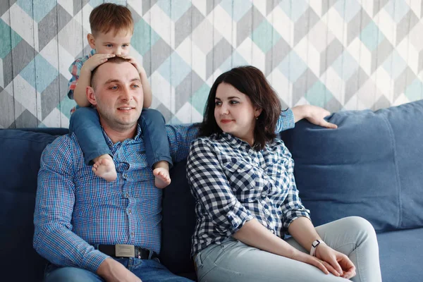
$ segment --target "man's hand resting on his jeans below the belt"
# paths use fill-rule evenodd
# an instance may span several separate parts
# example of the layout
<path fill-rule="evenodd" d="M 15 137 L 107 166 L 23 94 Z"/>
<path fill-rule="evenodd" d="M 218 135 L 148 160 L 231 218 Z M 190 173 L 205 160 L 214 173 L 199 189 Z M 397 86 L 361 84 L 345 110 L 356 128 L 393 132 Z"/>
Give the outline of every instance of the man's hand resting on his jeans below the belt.
<path fill-rule="evenodd" d="M 142 282 L 140 278 L 110 257 L 97 269 L 97 274 L 107 282 Z"/>

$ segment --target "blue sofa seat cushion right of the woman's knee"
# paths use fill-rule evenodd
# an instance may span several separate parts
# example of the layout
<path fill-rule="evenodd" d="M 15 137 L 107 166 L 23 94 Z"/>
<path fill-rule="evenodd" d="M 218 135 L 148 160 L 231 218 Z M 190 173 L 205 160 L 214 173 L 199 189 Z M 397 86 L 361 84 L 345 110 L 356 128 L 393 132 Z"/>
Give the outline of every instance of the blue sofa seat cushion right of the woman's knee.
<path fill-rule="evenodd" d="M 423 228 L 377 235 L 384 282 L 422 281 Z"/>

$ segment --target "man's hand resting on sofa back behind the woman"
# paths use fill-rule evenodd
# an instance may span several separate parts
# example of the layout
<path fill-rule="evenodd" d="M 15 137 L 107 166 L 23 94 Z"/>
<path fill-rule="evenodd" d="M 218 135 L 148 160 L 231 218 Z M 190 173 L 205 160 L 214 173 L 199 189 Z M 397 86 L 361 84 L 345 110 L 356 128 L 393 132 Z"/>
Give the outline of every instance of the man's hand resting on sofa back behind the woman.
<path fill-rule="evenodd" d="M 331 113 L 319 106 L 312 105 L 302 105 L 294 106 L 292 108 L 294 113 L 295 122 L 300 121 L 302 118 L 306 118 L 307 121 L 315 125 L 322 126 L 324 128 L 338 128 L 338 125 L 333 123 L 328 123 L 324 120 L 326 116 L 329 116 Z"/>

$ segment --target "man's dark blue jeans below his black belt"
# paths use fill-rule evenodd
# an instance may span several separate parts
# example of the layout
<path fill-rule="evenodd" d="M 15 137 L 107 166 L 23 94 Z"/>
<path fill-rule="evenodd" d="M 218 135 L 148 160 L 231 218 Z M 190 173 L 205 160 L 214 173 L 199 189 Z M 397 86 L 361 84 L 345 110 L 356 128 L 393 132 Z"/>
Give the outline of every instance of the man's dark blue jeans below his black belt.
<path fill-rule="evenodd" d="M 129 271 L 139 277 L 142 282 L 189 282 L 188 278 L 176 276 L 168 271 L 157 259 L 116 258 Z M 44 274 L 44 282 L 103 282 L 104 279 L 92 271 L 77 267 L 61 267 L 49 264 Z"/>

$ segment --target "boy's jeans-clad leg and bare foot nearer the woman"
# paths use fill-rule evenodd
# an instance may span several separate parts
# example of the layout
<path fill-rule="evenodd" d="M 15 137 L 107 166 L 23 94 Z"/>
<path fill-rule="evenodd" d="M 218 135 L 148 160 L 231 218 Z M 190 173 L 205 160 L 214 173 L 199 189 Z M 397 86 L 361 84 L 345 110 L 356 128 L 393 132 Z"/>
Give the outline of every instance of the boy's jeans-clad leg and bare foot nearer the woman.
<path fill-rule="evenodd" d="M 164 117 L 157 110 L 142 109 L 139 123 L 144 136 L 147 163 L 154 169 L 156 186 L 165 188 L 171 183 L 169 166 L 172 166 L 172 158 Z"/>

